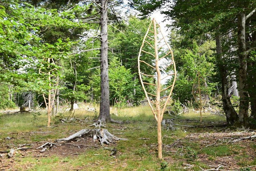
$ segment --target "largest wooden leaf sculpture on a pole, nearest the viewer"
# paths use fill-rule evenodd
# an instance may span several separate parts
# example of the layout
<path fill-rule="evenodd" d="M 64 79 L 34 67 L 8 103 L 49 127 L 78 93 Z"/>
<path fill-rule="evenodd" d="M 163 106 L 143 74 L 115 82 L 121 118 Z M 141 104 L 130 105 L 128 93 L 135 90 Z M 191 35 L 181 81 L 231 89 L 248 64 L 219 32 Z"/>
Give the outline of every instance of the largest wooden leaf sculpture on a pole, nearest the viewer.
<path fill-rule="evenodd" d="M 157 121 L 158 158 L 162 159 L 161 121 L 174 88 L 176 67 L 172 50 L 155 18 L 143 39 L 138 56 L 138 69 L 146 99 Z M 161 80 L 165 79 L 172 79 L 172 84 L 163 88 Z M 161 93 L 165 95 L 161 97 Z"/>

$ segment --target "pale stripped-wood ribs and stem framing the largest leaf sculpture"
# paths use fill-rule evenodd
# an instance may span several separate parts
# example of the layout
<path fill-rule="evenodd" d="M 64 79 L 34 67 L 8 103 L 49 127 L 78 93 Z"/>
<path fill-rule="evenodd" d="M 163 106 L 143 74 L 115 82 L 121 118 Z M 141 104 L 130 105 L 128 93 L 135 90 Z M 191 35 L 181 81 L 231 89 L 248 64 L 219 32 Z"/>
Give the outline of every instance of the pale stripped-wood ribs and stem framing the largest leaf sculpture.
<path fill-rule="evenodd" d="M 153 26 L 153 30 L 152 29 Z M 149 36 L 149 34 L 151 34 L 151 36 Z M 159 35 L 159 36 L 158 36 Z M 161 45 L 161 42 L 163 42 L 163 44 Z M 154 42 L 154 45 L 152 45 L 150 42 Z M 147 45 L 148 48 L 151 48 L 151 50 L 155 52 L 155 54 L 152 54 L 150 52 L 147 52 L 145 50 L 143 50 L 144 45 Z M 160 44 L 158 46 L 158 44 Z M 165 55 L 161 54 L 162 56 L 159 58 L 159 50 L 162 49 L 164 46 L 167 47 L 167 53 Z M 162 53 L 162 52 L 161 52 Z M 155 66 L 150 65 L 149 63 L 140 60 L 140 57 L 142 54 L 146 54 L 149 55 L 151 57 L 154 57 L 155 61 Z M 167 57 L 169 57 L 169 55 L 171 55 L 171 62 L 169 64 L 167 64 L 164 67 L 160 67 L 161 66 L 161 60 L 164 61 L 164 59 L 167 59 Z M 141 72 L 141 65 L 146 65 L 152 69 L 154 69 L 156 71 L 156 75 L 148 75 L 145 73 Z M 173 67 L 173 68 L 171 68 Z M 162 77 L 161 76 L 161 71 L 167 70 L 167 68 L 171 68 L 173 69 L 173 72 L 170 74 L 167 74 L 166 76 Z M 171 70 L 170 69 L 170 70 Z M 140 48 L 140 52 L 139 52 L 139 56 L 138 56 L 138 70 L 139 70 L 139 77 L 140 77 L 140 81 L 141 81 L 141 85 L 142 88 L 144 90 L 144 93 L 146 95 L 146 99 L 148 100 L 149 106 L 152 110 L 152 113 L 157 121 L 157 143 L 158 143 L 158 158 L 162 159 L 162 133 L 161 133 L 161 121 L 163 119 L 163 115 L 164 115 L 164 110 L 166 108 L 166 105 L 168 103 L 168 101 L 170 100 L 171 94 L 172 94 L 172 90 L 174 88 L 174 84 L 175 84 L 175 80 L 176 80 L 176 66 L 175 66 L 175 62 L 174 62 L 174 56 L 172 53 L 172 50 L 169 46 L 169 44 L 167 43 L 163 32 L 161 31 L 161 27 L 159 26 L 159 24 L 156 23 L 155 18 L 152 19 L 150 26 L 145 34 L 145 37 L 143 39 L 141 48 Z M 149 83 L 149 82 L 144 82 L 143 78 L 144 77 L 156 77 L 156 83 Z M 161 80 L 166 79 L 167 77 L 172 77 L 174 76 L 173 82 L 170 86 L 168 86 L 167 88 L 162 89 L 161 87 Z M 162 78 L 161 78 L 162 77 Z M 156 94 L 152 94 L 146 91 L 145 89 L 145 84 L 147 85 L 151 85 L 156 87 Z M 164 96 L 162 98 L 160 98 L 160 93 L 161 92 L 167 92 L 167 90 L 170 90 L 168 96 Z M 150 100 L 149 98 L 150 96 L 153 96 L 155 98 L 155 100 Z M 165 99 L 166 101 L 163 104 L 160 104 L 160 101 Z M 152 104 L 154 104 L 154 107 L 152 106 Z"/>

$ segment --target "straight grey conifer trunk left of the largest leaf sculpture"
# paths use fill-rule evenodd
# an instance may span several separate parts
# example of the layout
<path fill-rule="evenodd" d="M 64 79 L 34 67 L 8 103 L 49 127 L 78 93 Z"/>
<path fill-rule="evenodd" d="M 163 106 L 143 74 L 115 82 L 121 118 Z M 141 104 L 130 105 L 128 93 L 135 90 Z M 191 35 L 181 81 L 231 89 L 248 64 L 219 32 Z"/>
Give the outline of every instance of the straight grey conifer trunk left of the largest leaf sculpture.
<path fill-rule="evenodd" d="M 108 62 L 107 62 L 107 0 L 101 0 L 101 98 L 100 98 L 100 115 L 99 120 L 110 122 L 110 100 L 109 100 L 109 81 L 108 81 Z"/>

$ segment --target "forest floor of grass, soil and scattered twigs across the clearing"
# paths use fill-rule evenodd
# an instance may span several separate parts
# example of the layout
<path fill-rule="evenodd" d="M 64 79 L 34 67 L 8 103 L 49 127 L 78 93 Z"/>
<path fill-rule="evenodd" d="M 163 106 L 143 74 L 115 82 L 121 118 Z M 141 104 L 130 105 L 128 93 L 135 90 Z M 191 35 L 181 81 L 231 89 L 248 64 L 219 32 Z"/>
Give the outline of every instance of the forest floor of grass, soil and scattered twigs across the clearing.
<path fill-rule="evenodd" d="M 96 113 L 97 114 L 97 113 Z M 76 118 L 62 123 L 62 118 Z M 95 113 L 78 109 L 52 117 L 47 128 L 46 112 L 0 115 L 0 170 L 256 170 L 256 139 L 232 142 L 255 135 L 255 130 L 223 126 L 225 118 L 185 113 L 172 118 L 176 130 L 162 127 L 163 160 L 157 159 L 156 121 L 148 107 L 118 110 L 106 124 L 113 135 L 129 139 L 101 145 L 91 137 L 56 142 L 81 129 L 92 129 Z M 171 116 L 164 115 L 165 119 Z M 54 143 L 40 152 L 44 143 Z M 108 147 L 108 148 L 106 148 Z M 10 149 L 15 149 L 8 158 Z M 116 149 L 110 155 L 107 149 Z"/>

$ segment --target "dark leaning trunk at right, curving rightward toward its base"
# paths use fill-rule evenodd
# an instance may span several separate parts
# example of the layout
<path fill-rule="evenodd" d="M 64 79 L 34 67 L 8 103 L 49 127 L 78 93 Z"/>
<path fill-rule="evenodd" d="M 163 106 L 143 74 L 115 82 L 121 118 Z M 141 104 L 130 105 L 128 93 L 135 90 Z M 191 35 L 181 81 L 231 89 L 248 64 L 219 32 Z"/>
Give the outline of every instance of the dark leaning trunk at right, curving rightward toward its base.
<path fill-rule="evenodd" d="M 226 67 L 223 64 L 223 54 L 221 48 L 221 37 L 220 35 L 216 36 L 216 51 L 218 55 L 218 67 L 219 73 L 221 75 L 221 95 L 222 95 L 222 104 L 223 110 L 226 114 L 227 123 L 233 124 L 235 121 L 238 120 L 238 114 L 236 113 L 231 101 L 230 97 L 228 96 L 228 81 L 227 81 L 227 71 Z"/>

